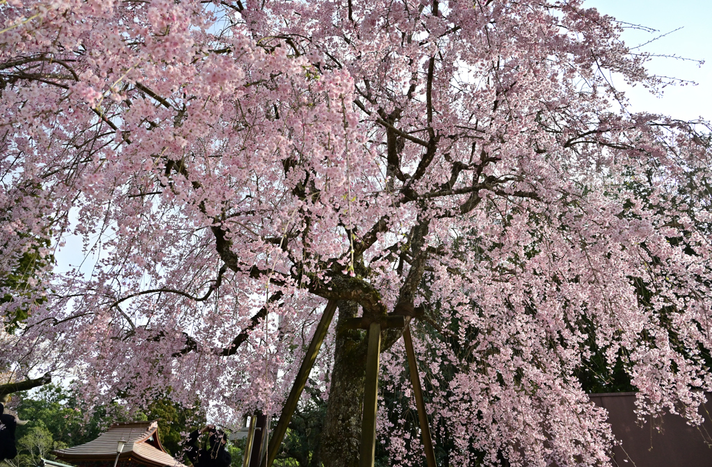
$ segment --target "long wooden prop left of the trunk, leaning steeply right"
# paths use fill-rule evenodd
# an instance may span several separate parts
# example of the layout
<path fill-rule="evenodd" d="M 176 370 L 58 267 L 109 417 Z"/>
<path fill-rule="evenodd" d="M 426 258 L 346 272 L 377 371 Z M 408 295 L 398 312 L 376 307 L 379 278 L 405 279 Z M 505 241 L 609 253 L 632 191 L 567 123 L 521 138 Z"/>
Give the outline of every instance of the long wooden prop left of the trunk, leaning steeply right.
<path fill-rule="evenodd" d="M 331 320 L 334 318 L 334 311 L 336 310 L 336 300 L 329 300 L 326 304 L 323 315 L 321 315 L 321 320 L 319 325 L 316 327 L 314 332 L 314 337 L 312 337 L 309 343 L 309 348 L 306 355 L 304 355 L 304 360 L 299 367 L 299 372 L 294 380 L 294 385 L 289 393 L 287 402 L 284 404 L 284 409 L 282 409 L 282 414 L 279 417 L 277 425 L 274 427 L 272 434 L 272 439 L 269 441 L 269 446 L 267 447 L 267 466 L 272 467 L 272 463 L 277 458 L 277 453 L 279 448 L 282 446 L 282 441 L 284 435 L 287 433 L 287 427 L 289 426 L 289 421 L 292 419 L 294 411 L 297 409 L 297 403 L 302 395 L 304 386 L 307 383 L 307 379 L 311 372 L 316 356 L 319 354 L 321 345 L 324 342 L 324 337 L 326 337 L 326 332 L 329 330 L 331 325 Z"/>

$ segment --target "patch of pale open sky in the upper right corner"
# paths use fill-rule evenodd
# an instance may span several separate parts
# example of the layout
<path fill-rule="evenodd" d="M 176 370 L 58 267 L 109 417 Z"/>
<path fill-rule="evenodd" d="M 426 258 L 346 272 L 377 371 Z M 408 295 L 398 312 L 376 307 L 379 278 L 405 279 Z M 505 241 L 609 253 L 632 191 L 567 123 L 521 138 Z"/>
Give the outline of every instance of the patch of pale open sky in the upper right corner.
<path fill-rule="evenodd" d="M 627 90 L 634 111 L 661 112 L 676 118 L 712 120 L 712 0 L 587 0 L 585 6 L 614 16 L 619 21 L 656 29 L 647 33 L 627 29 L 624 41 L 637 46 L 661 33 L 679 31 L 660 38 L 642 50 L 706 61 L 696 63 L 673 58 L 654 58 L 648 65 L 657 75 L 667 75 L 698 83 L 696 86 L 666 88 L 663 98 L 641 87 Z"/>

